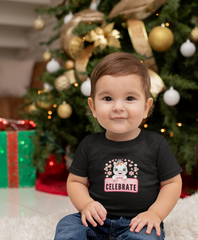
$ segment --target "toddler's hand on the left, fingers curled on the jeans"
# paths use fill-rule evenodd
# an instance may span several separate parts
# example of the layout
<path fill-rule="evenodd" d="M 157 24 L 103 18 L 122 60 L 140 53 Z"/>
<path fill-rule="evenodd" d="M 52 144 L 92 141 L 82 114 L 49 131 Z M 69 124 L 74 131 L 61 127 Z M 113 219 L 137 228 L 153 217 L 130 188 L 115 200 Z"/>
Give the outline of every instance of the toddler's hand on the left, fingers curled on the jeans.
<path fill-rule="evenodd" d="M 99 202 L 92 201 L 88 203 L 81 212 L 82 224 L 88 227 L 88 220 L 93 227 L 97 226 L 96 222 L 98 222 L 100 225 L 103 225 L 106 215 L 107 211 L 103 205 Z"/>

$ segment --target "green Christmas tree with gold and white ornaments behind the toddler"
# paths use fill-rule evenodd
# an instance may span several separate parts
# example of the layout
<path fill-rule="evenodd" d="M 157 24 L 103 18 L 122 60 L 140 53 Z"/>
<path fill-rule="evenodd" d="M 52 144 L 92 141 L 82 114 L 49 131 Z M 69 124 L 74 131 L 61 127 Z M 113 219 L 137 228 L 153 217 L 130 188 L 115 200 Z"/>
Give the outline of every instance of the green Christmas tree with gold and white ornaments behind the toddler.
<path fill-rule="evenodd" d="M 44 89 L 24 96 L 31 107 L 25 118 L 37 125 L 37 169 L 44 170 L 49 154 L 72 157 L 85 135 L 103 131 L 88 109 L 89 76 L 104 56 L 123 51 L 136 55 L 151 76 L 154 111 L 142 127 L 163 134 L 191 172 L 198 143 L 197 1 L 70 0 L 36 11 L 57 18 L 54 36 L 42 43 L 49 48 Z M 57 38 L 60 48 L 50 50 Z"/>

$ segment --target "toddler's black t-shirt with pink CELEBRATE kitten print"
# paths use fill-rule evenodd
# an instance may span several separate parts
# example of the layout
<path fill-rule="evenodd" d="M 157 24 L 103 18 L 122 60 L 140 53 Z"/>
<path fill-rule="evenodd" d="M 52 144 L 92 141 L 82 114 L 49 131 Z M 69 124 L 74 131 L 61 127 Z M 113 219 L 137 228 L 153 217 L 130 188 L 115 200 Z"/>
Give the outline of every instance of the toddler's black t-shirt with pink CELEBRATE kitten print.
<path fill-rule="evenodd" d="M 111 216 L 133 218 L 155 202 L 160 182 L 182 172 L 163 136 L 141 130 L 137 138 L 114 142 L 105 133 L 79 144 L 69 172 L 88 177 L 90 196 Z"/>

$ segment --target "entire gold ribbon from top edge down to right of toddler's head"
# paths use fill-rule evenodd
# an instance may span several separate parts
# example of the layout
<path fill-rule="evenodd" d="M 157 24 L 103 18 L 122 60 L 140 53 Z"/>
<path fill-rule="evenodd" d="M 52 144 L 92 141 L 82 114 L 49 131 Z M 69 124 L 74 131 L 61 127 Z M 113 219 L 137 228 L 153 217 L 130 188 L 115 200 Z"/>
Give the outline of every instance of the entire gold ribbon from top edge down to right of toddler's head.
<path fill-rule="evenodd" d="M 169 0 L 121 0 L 109 13 L 110 19 L 120 15 L 123 20 L 127 20 L 128 32 L 133 47 L 137 53 L 145 57 L 144 65 L 150 73 L 151 94 L 153 97 L 157 97 L 166 87 L 163 80 L 157 74 L 158 67 L 148 42 L 144 23 L 141 20 L 149 17 L 168 1 Z"/>

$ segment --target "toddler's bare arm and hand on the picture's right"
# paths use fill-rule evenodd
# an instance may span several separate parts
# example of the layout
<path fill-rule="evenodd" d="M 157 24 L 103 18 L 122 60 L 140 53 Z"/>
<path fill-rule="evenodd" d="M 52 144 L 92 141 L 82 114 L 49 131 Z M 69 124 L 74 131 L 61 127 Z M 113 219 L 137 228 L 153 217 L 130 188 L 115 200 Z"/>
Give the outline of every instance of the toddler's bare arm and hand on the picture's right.
<path fill-rule="evenodd" d="M 168 216 L 181 194 L 180 174 L 161 182 L 161 190 L 156 201 L 150 206 L 148 211 L 140 213 L 133 218 L 130 223 L 130 230 L 140 232 L 147 225 L 146 233 L 150 234 L 152 228 L 156 229 L 156 234 L 160 236 L 160 223 Z"/>

